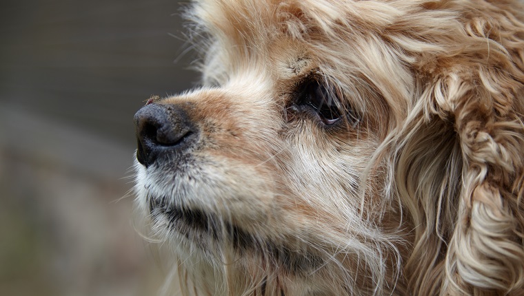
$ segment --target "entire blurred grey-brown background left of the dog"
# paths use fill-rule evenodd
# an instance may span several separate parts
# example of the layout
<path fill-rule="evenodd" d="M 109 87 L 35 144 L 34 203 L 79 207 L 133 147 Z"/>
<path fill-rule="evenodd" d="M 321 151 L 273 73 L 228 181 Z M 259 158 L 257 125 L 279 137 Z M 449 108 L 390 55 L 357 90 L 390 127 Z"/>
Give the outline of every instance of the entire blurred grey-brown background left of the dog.
<path fill-rule="evenodd" d="M 134 113 L 194 86 L 176 0 L 0 3 L 0 295 L 155 295 Z M 154 247 L 154 246 L 153 246 Z"/>

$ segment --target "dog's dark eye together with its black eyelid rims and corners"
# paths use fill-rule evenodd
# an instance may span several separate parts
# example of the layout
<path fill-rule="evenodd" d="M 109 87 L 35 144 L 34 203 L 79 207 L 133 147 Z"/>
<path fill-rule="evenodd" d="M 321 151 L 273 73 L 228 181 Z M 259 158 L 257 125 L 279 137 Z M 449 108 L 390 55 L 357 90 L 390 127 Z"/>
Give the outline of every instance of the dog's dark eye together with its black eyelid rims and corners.
<path fill-rule="evenodd" d="M 310 74 L 296 83 L 292 96 L 288 112 L 293 114 L 308 114 L 325 126 L 343 122 L 354 126 L 358 122 L 342 90 L 319 75 Z"/>

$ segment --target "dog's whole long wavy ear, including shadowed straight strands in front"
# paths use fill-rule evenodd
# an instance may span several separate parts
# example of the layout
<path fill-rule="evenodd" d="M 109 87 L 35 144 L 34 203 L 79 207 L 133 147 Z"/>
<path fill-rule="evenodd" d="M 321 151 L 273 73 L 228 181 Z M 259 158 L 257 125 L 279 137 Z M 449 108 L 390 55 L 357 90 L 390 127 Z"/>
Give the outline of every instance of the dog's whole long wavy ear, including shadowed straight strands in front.
<path fill-rule="evenodd" d="M 390 146 L 415 295 L 524 295 L 524 24 L 475 2 L 447 39 L 461 46 L 416 69 L 419 103 Z"/>

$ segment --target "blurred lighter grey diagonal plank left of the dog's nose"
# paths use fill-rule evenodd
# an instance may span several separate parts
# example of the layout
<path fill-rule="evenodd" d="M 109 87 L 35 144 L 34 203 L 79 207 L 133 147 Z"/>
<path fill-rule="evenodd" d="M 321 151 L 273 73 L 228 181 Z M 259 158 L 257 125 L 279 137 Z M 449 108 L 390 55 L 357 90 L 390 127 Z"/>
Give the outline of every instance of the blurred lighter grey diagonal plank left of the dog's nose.
<path fill-rule="evenodd" d="M 114 183 L 130 174 L 134 159 L 134 147 L 5 104 L 0 104 L 0 149 Z"/>

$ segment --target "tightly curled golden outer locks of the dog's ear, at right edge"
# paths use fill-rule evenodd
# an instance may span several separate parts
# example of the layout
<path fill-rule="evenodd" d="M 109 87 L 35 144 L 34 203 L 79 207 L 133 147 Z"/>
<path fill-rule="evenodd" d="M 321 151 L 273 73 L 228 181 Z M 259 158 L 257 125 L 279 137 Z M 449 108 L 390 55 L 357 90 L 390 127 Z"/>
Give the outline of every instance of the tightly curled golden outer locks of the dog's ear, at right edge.
<path fill-rule="evenodd" d="M 442 283 L 450 294 L 523 293 L 524 28 L 518 32 L 480 36 L 491 49 L 446 74 L 434 93 L 462 162 Z"/>

